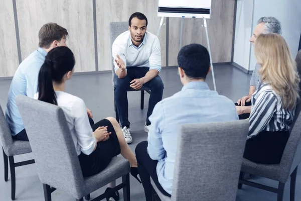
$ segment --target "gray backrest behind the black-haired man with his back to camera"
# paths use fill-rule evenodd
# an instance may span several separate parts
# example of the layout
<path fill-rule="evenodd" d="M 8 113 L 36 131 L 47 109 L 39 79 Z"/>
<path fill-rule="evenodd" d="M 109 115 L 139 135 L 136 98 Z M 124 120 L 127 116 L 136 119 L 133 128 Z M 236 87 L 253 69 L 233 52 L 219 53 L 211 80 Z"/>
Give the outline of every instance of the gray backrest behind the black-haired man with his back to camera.
<path fill-rule="evenodd" d="M 248 120 L 182 125 L 172 200 L 236 199 Z"/>

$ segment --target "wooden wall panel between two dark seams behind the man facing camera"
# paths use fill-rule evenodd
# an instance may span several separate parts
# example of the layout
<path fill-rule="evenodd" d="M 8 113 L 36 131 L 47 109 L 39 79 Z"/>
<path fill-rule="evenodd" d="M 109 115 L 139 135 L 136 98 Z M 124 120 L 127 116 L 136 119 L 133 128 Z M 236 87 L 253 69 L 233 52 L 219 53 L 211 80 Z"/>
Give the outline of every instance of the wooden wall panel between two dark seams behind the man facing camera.
<path fill-rule="evenodd" d="M 148 21 L 147 31 L 157 35 L 161 18 L 157 16 L 157 0 L 96 0 L 97 45 L 99 70 L 111 70 L 110 22 L 128 22 L 131 14 L 143 13 Z M 164 23 L 166 22 L 166 19 Z M 162 66 L 166 64 L 166 24 L 161 28 Z"/>

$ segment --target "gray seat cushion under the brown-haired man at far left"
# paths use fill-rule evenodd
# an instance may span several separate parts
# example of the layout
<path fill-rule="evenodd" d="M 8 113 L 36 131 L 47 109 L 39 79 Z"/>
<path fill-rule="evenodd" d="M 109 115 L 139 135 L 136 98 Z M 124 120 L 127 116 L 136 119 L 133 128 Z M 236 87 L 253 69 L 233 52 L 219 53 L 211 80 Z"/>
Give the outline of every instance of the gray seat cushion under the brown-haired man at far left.
<path fill-rule="evenodd" d="M 5 150 L 5 153 L 8 156 L 16 156 L 20 154 L 31 153 L 31 146 L 28 141 L 22 140 L 13 140 L 13 144 L 10 146 L 8 150 Z"/>

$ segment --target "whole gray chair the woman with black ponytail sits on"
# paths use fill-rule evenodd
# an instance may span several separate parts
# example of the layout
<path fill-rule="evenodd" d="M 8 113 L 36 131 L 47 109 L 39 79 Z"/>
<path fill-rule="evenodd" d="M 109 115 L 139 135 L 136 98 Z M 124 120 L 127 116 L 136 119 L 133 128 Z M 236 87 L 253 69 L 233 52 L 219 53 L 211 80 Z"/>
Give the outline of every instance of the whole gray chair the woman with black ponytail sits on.
<path fill-rule="evenodd" d="M 123 199 L 130 200 L 130 166 L 126 159 L 114 157 L 103 171 L 84 178 L 63 110 L 23 95 L 17 97 L 17 106 L 43 183 L 45 201 L 51 201 L 51 193 L 55 189 L 61 189 L 76 200 L 83 201 L 84 196 L 89 199 L 91 192 L 119 177 L 122 177 L 122 183 L 112 191 L 123 188 Z M 107 196 L 103 193 L 93 201 Z"/>

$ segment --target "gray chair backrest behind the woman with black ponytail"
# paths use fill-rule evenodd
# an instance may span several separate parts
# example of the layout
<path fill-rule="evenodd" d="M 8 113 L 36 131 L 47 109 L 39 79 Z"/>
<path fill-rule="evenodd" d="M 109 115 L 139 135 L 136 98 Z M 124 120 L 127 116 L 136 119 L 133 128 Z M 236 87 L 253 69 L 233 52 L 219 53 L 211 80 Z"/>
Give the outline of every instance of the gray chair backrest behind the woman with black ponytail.
<path fill-rule="evenodd" d="M 86 189 L 63 110 L 24 95 L 16 100 L 41 182 L 77 197 Z"/>

